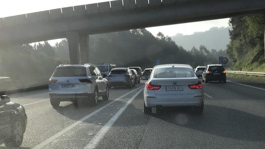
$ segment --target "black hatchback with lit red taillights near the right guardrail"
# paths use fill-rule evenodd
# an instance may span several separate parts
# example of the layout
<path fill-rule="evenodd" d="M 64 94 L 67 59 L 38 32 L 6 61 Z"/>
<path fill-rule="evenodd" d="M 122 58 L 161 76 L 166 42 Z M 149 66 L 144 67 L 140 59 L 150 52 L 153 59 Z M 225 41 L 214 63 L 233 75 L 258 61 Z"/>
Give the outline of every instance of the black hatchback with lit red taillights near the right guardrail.
<path fill-rule="evenodd" d="M 207 65 L 202 73 L 202 82 L 219 81 L 226 83 L 226 70 L 223 65 L 212 64 Z"/>

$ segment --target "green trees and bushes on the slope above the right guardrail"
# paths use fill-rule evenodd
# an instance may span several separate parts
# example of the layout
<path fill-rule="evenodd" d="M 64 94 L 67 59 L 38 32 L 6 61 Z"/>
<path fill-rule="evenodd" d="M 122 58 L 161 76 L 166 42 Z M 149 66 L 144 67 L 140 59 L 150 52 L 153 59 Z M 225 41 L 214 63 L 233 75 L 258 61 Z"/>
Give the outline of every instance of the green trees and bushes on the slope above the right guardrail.
<path fill-rule="evenodd" d="M 227 54 L 233 61 L 230 69 L 264 72 L 264 15 L 233 17 L 229 24 L 232 30 Z"/>

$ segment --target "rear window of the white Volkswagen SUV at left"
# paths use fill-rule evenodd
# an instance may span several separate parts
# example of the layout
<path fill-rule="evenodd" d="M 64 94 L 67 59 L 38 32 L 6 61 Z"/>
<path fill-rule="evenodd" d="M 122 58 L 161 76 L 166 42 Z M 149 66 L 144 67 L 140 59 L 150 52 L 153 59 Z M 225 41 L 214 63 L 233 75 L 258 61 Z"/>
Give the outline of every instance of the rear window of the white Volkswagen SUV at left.
<path fill-rule="evenodd" d="M 86 68 L 66 67 L 56 68 L 53 77 L 86 76 Z"/>

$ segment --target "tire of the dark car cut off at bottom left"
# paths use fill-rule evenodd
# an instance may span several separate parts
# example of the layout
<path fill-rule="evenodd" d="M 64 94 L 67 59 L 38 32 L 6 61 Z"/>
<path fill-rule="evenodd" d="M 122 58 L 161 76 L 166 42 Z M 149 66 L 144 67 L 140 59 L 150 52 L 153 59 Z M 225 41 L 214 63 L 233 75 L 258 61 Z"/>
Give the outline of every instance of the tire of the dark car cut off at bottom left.
<path fill-rule="evenodd" d="M 23 137 L 24 137 L 23 128 L 22 128 L 21 123 L 15 122 L 11 130 L 12 130 L 10 134 L 11 136 L 8 137 L 8 139 L 4 141 L 5 146 L 8 148 L 20 147 L 20 145 L 23 142 Z"/>

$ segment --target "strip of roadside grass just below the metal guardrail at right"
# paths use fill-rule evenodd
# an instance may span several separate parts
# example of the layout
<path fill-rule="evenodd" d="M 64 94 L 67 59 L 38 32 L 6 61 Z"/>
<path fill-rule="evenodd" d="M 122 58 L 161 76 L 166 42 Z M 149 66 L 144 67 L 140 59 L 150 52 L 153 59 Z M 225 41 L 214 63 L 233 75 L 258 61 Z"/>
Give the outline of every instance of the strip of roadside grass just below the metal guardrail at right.
<path fill-rule="evenodd" d="M 257 83 L 265 83 L 265 77 L 263 76 L 248 76 L 248 75 L 239 75 L 239 74 L 226 74 L 226 77 L 229 79 L 239 79 L 247 82 L 257 82 Z"/>

